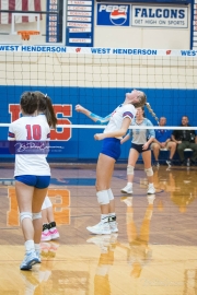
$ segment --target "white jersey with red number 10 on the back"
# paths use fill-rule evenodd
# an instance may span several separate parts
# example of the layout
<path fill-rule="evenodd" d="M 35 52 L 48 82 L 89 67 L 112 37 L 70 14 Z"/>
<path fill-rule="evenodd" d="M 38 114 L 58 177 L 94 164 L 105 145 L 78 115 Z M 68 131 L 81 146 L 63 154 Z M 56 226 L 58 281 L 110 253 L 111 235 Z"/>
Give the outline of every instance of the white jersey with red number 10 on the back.
<path fill-rule="evenodd" d="M 8 140 L 33 142 L 49 139 L 50 128 L 45 115 L 21 117 L 9 128 Z M 46 161 L 46 153 L 15 154 L 14 176 L 19 175 L 49 176 L 50 167 Z"/>

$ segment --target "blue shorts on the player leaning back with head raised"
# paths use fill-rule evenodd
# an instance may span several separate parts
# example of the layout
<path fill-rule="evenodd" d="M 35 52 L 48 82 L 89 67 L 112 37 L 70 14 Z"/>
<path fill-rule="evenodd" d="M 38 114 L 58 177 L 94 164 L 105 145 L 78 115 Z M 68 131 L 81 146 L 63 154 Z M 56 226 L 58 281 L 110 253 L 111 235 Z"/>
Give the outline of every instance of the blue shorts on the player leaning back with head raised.
<path fill-rule="evenodd" d="M 117 161 L 121 153 L 120 140 L 115 138 L 104 139 L 101 153 Z"/>

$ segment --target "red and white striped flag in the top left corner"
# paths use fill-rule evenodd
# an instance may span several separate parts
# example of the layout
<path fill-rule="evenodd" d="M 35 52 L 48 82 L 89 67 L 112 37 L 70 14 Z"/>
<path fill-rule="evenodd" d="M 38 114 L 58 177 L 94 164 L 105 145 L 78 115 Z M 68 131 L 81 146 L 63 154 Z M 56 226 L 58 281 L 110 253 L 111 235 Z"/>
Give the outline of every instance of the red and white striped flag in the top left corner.
<path fill-rule="evenodd" d="M 0 11 L 1 10 L 12 10 L 14 11 L 42 11 L 40 7 L 42 0 L 0 0 Z M 0 24 L 11 24 L 12 13 L 0 12 Z M 31 16 L 15 16 L 15 23 L 28 23 L 36 22 L 34 15 Z"/>

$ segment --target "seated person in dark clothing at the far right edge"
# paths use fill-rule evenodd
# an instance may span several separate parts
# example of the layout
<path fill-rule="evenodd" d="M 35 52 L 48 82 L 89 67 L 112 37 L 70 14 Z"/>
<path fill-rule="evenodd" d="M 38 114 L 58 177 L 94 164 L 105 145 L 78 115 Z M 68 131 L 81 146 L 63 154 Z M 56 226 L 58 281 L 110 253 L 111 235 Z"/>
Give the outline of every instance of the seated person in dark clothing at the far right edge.
<path fill-rule="evenodd" d="M 182 125 L 184 127 L 189 127 L 188 117 L 182 117 Z M 193 155 L 190 157 L 190 165 L 194 166 L 197 160 L 197 137 L 195 130 L 174 130 L 172 133 L 172 140 L 177 144 L 177 153 L 179 155 L 181 165 L 186 165 L 186 160 L 184 156 L 185 149 L 192 149 Z"/>

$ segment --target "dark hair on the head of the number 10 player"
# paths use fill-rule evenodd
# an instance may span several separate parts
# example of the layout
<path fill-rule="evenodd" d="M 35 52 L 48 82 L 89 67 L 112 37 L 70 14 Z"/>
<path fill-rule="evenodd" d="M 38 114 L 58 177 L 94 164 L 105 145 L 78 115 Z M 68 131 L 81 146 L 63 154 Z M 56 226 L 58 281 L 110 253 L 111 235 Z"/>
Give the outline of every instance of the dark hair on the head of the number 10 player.
<path fill-rule="evenodd" d="M 25 114 L 33 115 L 37 110 L 37 96 L 33 92 L 24 92 L 20 105 Z"/>

